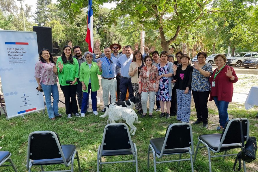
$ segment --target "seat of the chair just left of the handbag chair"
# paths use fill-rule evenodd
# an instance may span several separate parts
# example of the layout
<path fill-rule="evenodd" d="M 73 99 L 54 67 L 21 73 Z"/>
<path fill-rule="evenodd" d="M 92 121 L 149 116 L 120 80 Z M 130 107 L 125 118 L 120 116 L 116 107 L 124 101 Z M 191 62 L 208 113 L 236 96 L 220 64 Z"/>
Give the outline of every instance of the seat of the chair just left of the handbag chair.
<path fill-rule="evenodd" d="M 155 152 L 157 154 L 160 154 L 163 143 L 164 143 L 164 137 L 151 139 L 149 142 L 152 145 L 152 147 L 154 148 Z M 165 155 L 165 154 L 176 154 L 176 153 L 186 153 L 188 151 L 189 151 L 188 147 L 178 148 L 178 149 L 164 149 L 163 155 Z"/>

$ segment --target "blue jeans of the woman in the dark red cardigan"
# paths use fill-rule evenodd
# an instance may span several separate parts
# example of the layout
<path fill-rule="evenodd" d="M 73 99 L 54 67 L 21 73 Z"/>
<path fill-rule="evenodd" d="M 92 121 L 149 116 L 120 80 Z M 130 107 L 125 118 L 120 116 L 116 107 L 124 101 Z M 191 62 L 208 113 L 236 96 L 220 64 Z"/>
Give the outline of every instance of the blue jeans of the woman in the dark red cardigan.
<path fill-rule="evenodd" d="M 225 127 L 226 122 L 229 120 L 229 114 L 227 113 L 227 108 L 229 102 L 223 100 L 218 100 L 218 97 L 213 97 L 216 106 L 218 107 L 218 116 L 220 118 L 219 123 L 223 128 Z"/>

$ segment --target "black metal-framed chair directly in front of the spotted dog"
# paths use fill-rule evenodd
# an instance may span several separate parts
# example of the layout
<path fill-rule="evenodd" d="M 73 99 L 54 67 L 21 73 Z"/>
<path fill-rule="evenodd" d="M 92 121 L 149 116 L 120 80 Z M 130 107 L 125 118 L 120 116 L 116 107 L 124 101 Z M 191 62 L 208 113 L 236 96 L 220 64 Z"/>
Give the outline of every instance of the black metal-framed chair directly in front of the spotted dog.
<path fill-rule="evenodd" d="M 116 155 L 133 155 L 133 160 L 102 162 L 102 156 Z M 129 128 L 124 123 L 107 124 L 104 128 L 102 143 L 98 146 L 97 154 L 97 171 L 101 169 L 101 164 L 133 162 L 136 164 L 136 172 L 138 172 L 137 148 L 132 142 Z"/>

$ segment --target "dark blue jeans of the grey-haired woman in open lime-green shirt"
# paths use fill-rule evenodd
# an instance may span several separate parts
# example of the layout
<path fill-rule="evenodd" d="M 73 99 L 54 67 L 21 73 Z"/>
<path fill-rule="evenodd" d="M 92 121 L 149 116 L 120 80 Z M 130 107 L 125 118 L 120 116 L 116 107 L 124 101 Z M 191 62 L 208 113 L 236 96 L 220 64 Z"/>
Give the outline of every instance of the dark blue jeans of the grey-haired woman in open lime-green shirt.
<path fill-rule="evenodd" d="M 89 92 L 91 91 L 91 83 L 88 85 L 88 92 L 83 92 L 83 101 L 81 104 L 81 113 L 86 113 L 87 110 L 87 102 L 89 100 Z M 91 91 L 91 103 L 92 103 L 92 111 L 97 111 L 97 92 Z"/>

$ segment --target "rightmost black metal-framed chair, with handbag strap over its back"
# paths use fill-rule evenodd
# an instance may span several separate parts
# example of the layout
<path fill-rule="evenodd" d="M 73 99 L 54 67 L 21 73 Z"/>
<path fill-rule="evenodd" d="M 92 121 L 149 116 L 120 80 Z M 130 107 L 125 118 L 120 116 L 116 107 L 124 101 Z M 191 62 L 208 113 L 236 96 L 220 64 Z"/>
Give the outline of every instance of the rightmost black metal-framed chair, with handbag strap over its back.
<path fill-rule="evenodd" d="M 237 154 L 227 154 L 227 151 L 230 149 L 241 148 L 241 132 L 240 132 L 240 121 L 242 121 L 243 126 L 243 134 L 244 134 L 244 141 L 248 141 L 249 138 L 249 120 L 247 118 L 235 118 L 227 121 L 225 128 L 222 134 L 203 134 L 198 137 L 199 141 L 197 143 L 195 158 L 199 148 L 206 147 L 208 150 L 208 159 L 209 159 L 209 171 L 212 171 L 211 159 L 213 157 L 220 157 L 222 156 L 225 159 L 225 156 L 234 156 Z M 205 146 L 199 146 L 202 143 Z M 211 156 L 210 151 L 214 153 L 224 152 L 223 155 L 216 155 Z M 243 161 L 244 171 L 246 171 L 246 165 Z"/>

